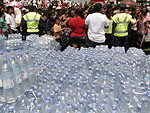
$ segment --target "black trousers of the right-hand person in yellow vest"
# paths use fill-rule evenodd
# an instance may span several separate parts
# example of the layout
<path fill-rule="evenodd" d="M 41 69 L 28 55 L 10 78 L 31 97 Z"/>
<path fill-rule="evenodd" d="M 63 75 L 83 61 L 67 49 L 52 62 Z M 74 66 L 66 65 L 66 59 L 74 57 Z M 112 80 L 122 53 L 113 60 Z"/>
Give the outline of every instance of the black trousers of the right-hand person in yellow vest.
<path fill-rule="evenodd" d="M 114 36 L 112 40 L 112 46 L 120 46 L 125 48 L 125 52 L 129 49 L 128 36 L 117 37 Z"/>

